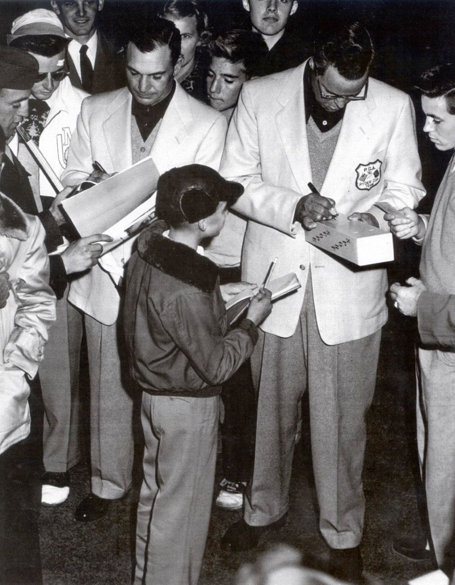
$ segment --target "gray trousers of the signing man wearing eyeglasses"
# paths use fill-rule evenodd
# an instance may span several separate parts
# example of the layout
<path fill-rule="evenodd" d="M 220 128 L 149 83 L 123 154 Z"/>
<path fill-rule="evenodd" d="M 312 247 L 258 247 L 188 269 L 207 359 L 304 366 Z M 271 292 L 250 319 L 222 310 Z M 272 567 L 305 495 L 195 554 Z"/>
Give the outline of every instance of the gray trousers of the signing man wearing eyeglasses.
<path fill-rule="evenodd" d="M 308 389 L 320 531 L 332 548 L 359 545 L 365 415 L 373 400 L 380 340 L 378 331 L 326 345 L 316 324 L 311 278 L 294 335 L 261 333 L 251 357 L 258 409 L 254 472 L 244 510 L 248 524 L 271 524 L 288 511 L 298 402 Z"/>

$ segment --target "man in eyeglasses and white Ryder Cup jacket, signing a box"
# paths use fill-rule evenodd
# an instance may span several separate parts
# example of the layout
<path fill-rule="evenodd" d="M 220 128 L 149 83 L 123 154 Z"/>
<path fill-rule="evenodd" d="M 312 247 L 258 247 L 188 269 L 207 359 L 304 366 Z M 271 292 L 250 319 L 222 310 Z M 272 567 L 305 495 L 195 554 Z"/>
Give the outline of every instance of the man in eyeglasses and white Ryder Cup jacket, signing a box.
<path fill-rule="evenodd" d="M 258 392 L 256 453 L 244 517 L 223 548 L 256 546 L 285 524 L 298 419 L 309 392 L 319 527 L 331 570 L 358 581 L 364 520 L 365 414 L 373 399 L 387 274 L 359 269 L 305 241 L 316 221 L 347 214 L 387 228 L 374 207 L 414 208 L 420 182 L 414 113 L 401 91 L 369 77 L 370 35 L 328 24 L 301 66 L 243 85 L 220 173 L 244 185 L 242 280 L 294 271 L 302 288 L 274 305 L 251 357 Z M 312 182 L 322 193 L 309 192 Z"/>

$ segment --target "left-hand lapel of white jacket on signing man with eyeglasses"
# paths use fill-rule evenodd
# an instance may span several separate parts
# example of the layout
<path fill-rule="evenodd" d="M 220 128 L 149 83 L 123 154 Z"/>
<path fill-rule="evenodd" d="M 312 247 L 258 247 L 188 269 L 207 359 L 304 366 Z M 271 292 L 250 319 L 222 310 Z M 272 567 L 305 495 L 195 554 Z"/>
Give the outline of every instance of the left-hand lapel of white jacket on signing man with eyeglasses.
<path fill-rule="evenodd" d="M 282 146 L 299 191 L 308 192 L 311 163 L 306 140 L 304 70 L 305 63 L 295 68 L 278 97 L 282 106 L 275 115 Z"/>

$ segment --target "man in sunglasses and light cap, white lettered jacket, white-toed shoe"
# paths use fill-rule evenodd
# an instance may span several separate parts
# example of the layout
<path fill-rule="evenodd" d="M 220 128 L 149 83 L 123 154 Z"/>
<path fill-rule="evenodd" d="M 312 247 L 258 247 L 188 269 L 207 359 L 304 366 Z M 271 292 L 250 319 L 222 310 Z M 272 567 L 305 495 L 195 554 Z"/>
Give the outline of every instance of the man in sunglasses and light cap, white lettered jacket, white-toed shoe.
<path fill-rule="evenodd" d="M 26 106 L 21 112 L 24 116 L 22 126 L 60 177 L 66 168 L 67 150 L 82 100 L 88 94 L 71 85 L 65 59 L 68 39 L 54 12 L 45 9 L 27 12 L 13 22 L 11 33 L 10 47 L 26 51 L 39 65 L 29 99 L 28 117 Z M 9 147 L 29 173 L 25 181 L 32 187 L 35 199 L 32 198 L 32 204 L 36 208 L 27 211 L 37 213 L 48 209 L 56 197 L 54 187 L 26 145 L 18 143 L 17 134 Z M 79 319 L 74 318 L 76 309 L 67 302 L 66 285 L 68 274 L 85 271 L 98 260 L 101 246 L 91 243 L 97 240 L 99 238 L 94 236 L 82 238 L 68 246 L 61 255 L 50 256 L 51 275 L 58 274 L 58 290 L 55 290 L 58 301 L 49 351 L 40 367 L 44 404 L 43 505 L 56 506 L 67 499 L 70 491 L 68 469 L 80 459 L 78 376 L 75 373 L 78 372 L 80 341 L 77 340 L 80 340 L 81 331 L 77 326 Z M 63 266 L 59 267 L 59 262 Z"/>

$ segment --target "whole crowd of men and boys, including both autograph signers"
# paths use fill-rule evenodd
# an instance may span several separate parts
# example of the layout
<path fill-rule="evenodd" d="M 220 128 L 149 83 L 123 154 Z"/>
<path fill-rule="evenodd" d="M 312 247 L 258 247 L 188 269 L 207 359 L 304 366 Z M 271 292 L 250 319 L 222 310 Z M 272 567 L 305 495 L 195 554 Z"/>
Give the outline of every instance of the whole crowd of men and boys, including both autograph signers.
<path fill-rule="evenodd" d="M 365 417 L 388 296 L 418 319 L 429 524 L 425 543 L 397 541 L 394 550 L 447 575 L 455 568 L 454 159 L 432 213 L 417 214 L 425 188 L 415 109 L 408 94 L 370 75 L 368 30 L 325 23 L 310 48 L 289 33 L 297 0 L 242 4 L 249 27 L 227 22 L 213 33 L 199 0 L 163 1 L 125 27 L 119 50 L 98 27 L 104 0 L 50 0 L 16 18 L 0 46 L 6 583 L 42 581 L 36 518 L 27 560 L 4 554 L 20 548 L 12 509 L 63 504 L 84 455 L 84 343 L 91 483 L 74 518 L 95 522 L 130 490 L 142 401 L 135 583 L 197 584 L 219 420 L 216 505 L 243 510 L 220 546 L 254 549 L 265 531 L 285 525 L 306 392 L 328 571 L 361 582 Z M 418 90 L 423 132 L 436 149 L 453 150 L 455 64 L 435 63 Z M 61 203 L 147 157 L 159 175 L 149 193 L 156 221 L 106 253 L 111 236 L 81 237 Z M 384 264 L 359 268 L 306 241 L 317 222 L 339 216 L 412 238 L 422 246 L 419 278 L 388 292 Z M 271 270 L 301 284 L 273 304 Z M 225 303 L 244 291 L 250 304 L 229 323 Z M 24 465 L 33 395 L 44 410 L 39 478 Z M 293 583 L 330 582 L 294 568 Z M 245 582 L 255 583 L 249 571 Z M 267 579 L 260 582 L 287 582 Z"/>

